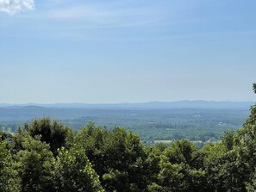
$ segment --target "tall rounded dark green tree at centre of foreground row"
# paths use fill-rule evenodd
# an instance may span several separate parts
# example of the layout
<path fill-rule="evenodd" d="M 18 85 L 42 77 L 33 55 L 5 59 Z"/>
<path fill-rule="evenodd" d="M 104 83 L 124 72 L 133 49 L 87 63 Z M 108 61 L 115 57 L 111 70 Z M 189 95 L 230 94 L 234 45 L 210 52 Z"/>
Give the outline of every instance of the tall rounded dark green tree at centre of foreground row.
<path fill-rule="evenodd" d="M 122 127 L 113 130 L 107 153 L 109 173 L 103 175 L 103 184 L 116 191 L 144 191 L 150 180 L 148 174 L 147 153 L 137 134 L 126 132 Z M 116 173 L 116 174 L 115 174 Z M 113 181 L 122 178 L 122 183 Z M 108 188 L 109 191 L 112 188 Z"/>

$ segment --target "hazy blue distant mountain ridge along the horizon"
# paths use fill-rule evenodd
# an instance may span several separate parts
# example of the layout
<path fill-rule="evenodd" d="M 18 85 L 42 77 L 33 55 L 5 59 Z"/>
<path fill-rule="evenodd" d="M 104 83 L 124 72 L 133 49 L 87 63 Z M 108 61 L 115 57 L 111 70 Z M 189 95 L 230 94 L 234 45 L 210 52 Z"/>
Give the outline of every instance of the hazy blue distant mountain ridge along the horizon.
<path fill-rule="evenodd" d="M 40 104 L 40 103 L 27 103 L 27 104 L 1 104 L 0 108 L 109 108 L 109 109 L 165 109 L 165 108 L 250 108 L 255 102 L 214 102 L 214 101 L 178 101 L 178 102 L 138 102 L 138 103 L 53 103 L 53 104 Z"/>

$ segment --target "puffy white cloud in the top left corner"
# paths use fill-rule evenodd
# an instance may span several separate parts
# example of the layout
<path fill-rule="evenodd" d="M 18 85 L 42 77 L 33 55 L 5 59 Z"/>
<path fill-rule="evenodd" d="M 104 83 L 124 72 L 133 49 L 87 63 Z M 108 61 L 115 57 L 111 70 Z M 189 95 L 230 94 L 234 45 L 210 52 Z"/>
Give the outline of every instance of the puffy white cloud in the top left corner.
<path fill-rule="evenodd" d="M 34 9 L 34 0 L 0 0 L 0 12 L 9 15 Z"/>

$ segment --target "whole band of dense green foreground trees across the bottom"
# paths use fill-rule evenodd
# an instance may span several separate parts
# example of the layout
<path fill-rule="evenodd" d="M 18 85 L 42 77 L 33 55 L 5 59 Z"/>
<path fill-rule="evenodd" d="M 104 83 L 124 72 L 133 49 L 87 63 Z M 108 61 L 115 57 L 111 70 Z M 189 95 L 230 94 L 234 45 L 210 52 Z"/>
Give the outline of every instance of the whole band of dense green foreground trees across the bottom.
<path fill-rule="evenodd" d="M 256 84 L 253 84 L 256 93 Z M 0 191 L 255 191 L 256 105 L 237 132 L 199 150 L 188 139 L 144 146 L 122 127 L 74 132 L 42 118 L 1 133 Z"/>

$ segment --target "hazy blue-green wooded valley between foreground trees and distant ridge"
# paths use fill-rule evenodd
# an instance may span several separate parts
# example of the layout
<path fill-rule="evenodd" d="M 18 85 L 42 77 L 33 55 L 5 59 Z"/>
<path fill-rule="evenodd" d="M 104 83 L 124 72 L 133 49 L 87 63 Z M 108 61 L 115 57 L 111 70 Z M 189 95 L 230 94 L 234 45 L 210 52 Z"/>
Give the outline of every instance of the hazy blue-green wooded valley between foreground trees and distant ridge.
<path fill-rule="evenodd" d="M 166 102 L 166 105 L 173 102 Z M 174 102 L 176 103 L 176 102 Z M 179 102 L 178 102 L 179 103 Z M 159 106 L 151 108 L 150 103 L 144 103 L 147 108 L 83 108 L 83 105 L 56 108 L 38 105 L 8 106 L 0 104 L 0 131 L 16 133 L 17 127 L 23 127 L 32 119 L 50 117 L 58 120 L 72 130 L 79 130 L 92 121 L 100 127 L 109 130 L 125 127 L 138 133 L 140 140 L 151 145 L 156 142 L 170 143 L 176 139 L 190 139 L 200 144 L 218 141 L 228 131 L 239 129 L 247 120 L 249 108 L 254 102 L 184 102 L 175 108 Z M 225 105 L 227 103 L 228 105 Z M 133 104 L 132 104 L 133 105 Z M 191 106 L 192 105 L 192 106 Z M 233 105 L 233 106 L 232 106 Z M 191 107 L 191 108 L 190 108 Z"/>

